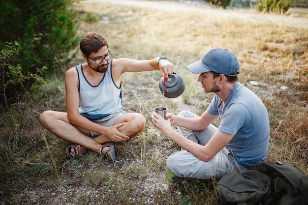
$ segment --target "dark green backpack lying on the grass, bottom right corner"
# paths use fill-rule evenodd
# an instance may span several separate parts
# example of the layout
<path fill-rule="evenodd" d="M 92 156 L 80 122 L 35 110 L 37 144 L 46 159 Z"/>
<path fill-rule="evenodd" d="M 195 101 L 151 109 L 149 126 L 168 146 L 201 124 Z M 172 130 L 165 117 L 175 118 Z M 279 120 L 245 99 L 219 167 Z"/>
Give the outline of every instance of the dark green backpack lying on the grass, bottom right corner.
<path fill-rule="evenodd" d="M 237 170 L 216 184 L 220 205 L 308 205 L 308 178 L 284 162 Z"/>

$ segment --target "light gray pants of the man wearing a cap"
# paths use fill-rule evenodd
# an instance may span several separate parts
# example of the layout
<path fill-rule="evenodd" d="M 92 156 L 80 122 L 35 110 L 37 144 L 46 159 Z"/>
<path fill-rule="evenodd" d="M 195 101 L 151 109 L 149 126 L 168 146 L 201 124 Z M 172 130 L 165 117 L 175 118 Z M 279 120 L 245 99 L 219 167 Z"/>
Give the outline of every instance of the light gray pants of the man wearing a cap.
<path fill-rule="evenodd" d="M 178 116 L 186 118 L 198 117 L 189 111 L 182 111 Z M 192 131 L 178 126 L 178 132 L 181 135 L 203 146 L 209 142 L 216 130 L 217 128 L 212 124 L 203 131 Z M 167 168 L 170 172 L 180 177 L 198 179 L 208 179 L 212 177 L 220 178 L 228 172 L 237 169 L 244 169 L 241 165 L 235 162 L 232 155 L 229 153 L 230 151 L 228 149 L 223 148 L 210 161 L 205 162 L 185 149 L 182 149 L 168 157 Z"/>

